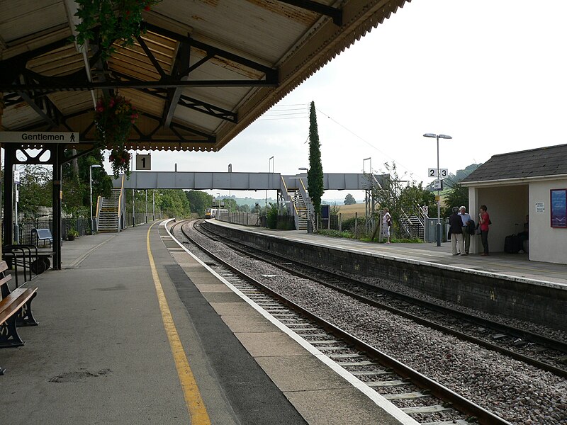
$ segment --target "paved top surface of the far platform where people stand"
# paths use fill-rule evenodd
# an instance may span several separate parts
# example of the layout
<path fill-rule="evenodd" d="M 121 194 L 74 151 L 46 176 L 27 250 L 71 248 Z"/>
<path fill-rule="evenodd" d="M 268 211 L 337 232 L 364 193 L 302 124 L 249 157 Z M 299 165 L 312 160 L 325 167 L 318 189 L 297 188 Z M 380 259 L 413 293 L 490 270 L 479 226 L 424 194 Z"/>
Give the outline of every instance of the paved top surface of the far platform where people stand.
<path fill-rule="evenodd" d="M 357 239 L 344 239 L 324 237 L 318 234 L 308 234 L 304 230 L 276 230 L 259 227 L 247 227 L 233 223 L 210 220 L 215 225 L 238 227 L 249 232 L 270 234 L 275 237 L 284 237 L 296 241 L 320 246 L 335 246 L 339 249 L 368 252 L 391 256 L 396 259 L 408 259 L 412 261 L 423 261 L 426 263 L 439 264 L 442 266 L 453 266 L 469 271 L 481 271 L 495 273 L 499 276 L 510 276 L 512 278 L 533 280 L 539 283 L 554 283 L 563 286 L 567 290 L 567 265 L 556 263 L 545 263 L 541 261 L 529 261 L 528 254 L 506 254 L 497 252 L 490 256 L 469 254 L 468 256 L 451 255 L 451 243 L 444 242 L 441 246 L 436 243 L 423 244 L 378 244 L 374 242 L 361 242 Z M 566 254 L 567 255 L 567 254 Z"/>

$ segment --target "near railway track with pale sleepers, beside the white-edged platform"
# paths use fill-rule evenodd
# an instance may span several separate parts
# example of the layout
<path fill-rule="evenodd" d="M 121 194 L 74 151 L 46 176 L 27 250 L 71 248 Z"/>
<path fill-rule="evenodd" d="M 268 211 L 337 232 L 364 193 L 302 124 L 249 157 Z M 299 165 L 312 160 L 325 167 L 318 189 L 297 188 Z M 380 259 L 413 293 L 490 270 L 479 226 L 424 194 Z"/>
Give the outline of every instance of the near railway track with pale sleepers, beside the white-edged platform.
<path fill-rule="evenodd" d="M 233 267 L 187 234 L 183 222 L 174 227 L 220 276 L 420 424 L 510 424 Z"/>

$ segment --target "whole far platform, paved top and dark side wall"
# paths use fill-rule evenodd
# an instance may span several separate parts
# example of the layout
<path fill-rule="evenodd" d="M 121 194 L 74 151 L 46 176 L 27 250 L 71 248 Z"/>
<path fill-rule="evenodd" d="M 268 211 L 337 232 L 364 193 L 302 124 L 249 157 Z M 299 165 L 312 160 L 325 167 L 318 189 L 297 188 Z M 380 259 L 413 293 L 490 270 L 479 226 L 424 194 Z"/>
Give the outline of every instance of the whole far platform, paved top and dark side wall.
<path fill-rule="evenodd" d="M 564 264 L 529 261 L 527 254 L 453 256 L 449 243 L 378 244 L 207 221 L 225 237 L 261 251 L 371 279 L 380 287 L 393 285 L 397 292 L 420 293 L 457 309 L 567 330 Z"/>

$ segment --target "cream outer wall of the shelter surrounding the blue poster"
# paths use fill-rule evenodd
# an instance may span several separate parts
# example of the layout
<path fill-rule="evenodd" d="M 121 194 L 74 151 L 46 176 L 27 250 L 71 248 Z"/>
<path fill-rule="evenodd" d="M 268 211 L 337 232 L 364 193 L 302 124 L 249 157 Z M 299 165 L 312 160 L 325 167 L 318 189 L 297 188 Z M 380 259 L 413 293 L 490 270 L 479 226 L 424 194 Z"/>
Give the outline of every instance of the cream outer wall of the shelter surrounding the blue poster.
<path fill-rule="evenodd" d="M 551 227 L 549 190 L 567 188 L 567 179 L 541 181 L 529 185 L 529 259 L 567 264 L 567 229 Z M 535 212 L 535 203 L 545 205 Z"/>

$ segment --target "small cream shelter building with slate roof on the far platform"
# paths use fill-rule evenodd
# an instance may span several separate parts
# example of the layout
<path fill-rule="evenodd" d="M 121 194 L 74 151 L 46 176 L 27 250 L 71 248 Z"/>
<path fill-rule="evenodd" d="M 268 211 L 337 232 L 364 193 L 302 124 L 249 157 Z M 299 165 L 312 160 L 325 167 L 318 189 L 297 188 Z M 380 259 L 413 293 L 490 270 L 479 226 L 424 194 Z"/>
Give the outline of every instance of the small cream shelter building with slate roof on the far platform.
<path fill-rule="evenodd" d="M 461 183 L 475 221 L 488 207 L 490 251 L 504 251 L 505 237 L 523 232 L 529 215 L 529 259 L 567 264 L 567 145 L 494 155 Z M 472 238 L 471 251 L 480 249 Z"/>

